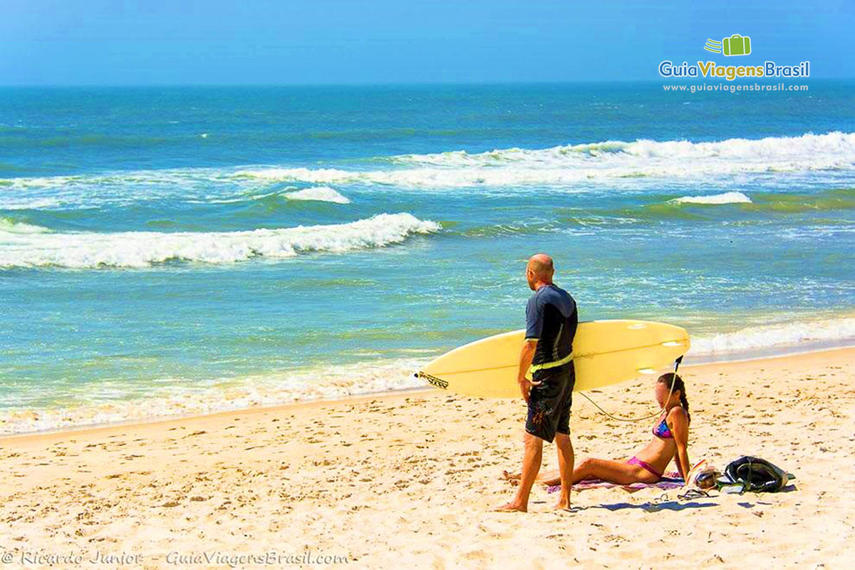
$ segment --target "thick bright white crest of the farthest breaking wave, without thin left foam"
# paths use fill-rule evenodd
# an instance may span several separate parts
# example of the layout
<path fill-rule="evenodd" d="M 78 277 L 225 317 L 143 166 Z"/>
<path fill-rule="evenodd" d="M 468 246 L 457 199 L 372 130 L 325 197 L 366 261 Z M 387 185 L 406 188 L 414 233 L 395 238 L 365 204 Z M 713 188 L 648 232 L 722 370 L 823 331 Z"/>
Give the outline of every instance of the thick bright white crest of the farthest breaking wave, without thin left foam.
<path fill-rule="evenodd" d="M 840 170 L 855 167 L 855 133 L 829 132 L 757 140 L 602 143 L 482 153 L 455 150 L 392 156 L 392 168 L 264 167 L 237 170 L 239 179 L 310 184 L 397 185 L 460 188 L 508 185 L 574 185 L 592 179 L 707 179 L 741 173 Z"/>

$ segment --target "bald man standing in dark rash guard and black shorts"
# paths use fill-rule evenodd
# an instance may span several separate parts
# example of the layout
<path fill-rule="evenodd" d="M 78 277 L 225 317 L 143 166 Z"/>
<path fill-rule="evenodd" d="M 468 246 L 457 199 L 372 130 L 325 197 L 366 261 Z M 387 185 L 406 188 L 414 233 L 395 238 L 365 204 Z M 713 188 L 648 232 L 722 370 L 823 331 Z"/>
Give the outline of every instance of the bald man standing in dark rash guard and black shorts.
<path fill-rule="evenodd" d="M 537 254 L 528 260 L 526 279 L 534 295 L 526 306 L 526 339 L 520 351 L 517 381 L 528 403 L 525 455 L 522 478 L 514 500 L 498 508 L 502 511 L 528 509 L 528 494 L 540 471 L 543 442 L 558 450 L 561 498 L 555 508 L 570 507 L 573 477 L 573 445 L 570 444 L 570 403 L 575 384 L 573 338 L 579 316 L 576 302 L 552 283 L 552 258 Z"/>

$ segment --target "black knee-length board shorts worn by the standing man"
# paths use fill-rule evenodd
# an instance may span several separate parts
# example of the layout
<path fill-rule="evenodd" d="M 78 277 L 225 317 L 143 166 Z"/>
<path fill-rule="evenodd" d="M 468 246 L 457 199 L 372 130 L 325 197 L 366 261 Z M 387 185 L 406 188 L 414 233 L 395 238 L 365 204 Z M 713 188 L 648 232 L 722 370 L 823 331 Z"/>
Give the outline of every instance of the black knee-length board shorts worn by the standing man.
<path fill-rule="evenodd" d="M 570 404 L 576 383 L 573 361 L 538 370 L 534 380 L 540 384 L 532 386 L 528 397 L 526 432 L 552 443 L 556 433 L 570 432 Z"/>

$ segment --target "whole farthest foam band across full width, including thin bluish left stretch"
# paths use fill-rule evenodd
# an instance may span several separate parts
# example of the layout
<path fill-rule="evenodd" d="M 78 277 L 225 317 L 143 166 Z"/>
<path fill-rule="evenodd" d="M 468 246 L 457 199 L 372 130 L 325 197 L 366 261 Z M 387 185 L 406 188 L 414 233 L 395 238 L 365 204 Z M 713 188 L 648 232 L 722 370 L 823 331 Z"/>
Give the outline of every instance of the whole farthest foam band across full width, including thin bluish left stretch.
<path fill-rule="evenodd" d="M 179 198 L 215 203 L 247 199 L 259 184 L 394 185 L 455 189 L 525 185 L 590 185 L 599 179 L 721 180 L 741 174 L 847 171 L 855 169 L 855 132 L 806 133 L 798 137 L 632 142 L 610 140 L 547 149 L 465 150 L 375 157 L 380 169 L 292 167 L 174 168 L 38 178 L 0 179 L 0 209 L 138 203 Z M 144 191 L 140 191 L 144 188 Z M 50 195 L 44 191 L 50 190 Z M 212 195 L 213 190 L 213 195 Z M 307 191 L 310 189 L 306 189 Z M 302 191 L 300 191 L 302 192 Z M 311 191 L 327 199 L 328 191 Z M 338 194 L 338 191 L 335 191 Z M 340 194 L 339 194 L 340 196 Z M 54 203 L 45 203 L 50 198 Z M 293 198 L 293 197 L 292 197 Z M 300 199 L 300 198 L 297 198 Z M 339 200 L 340 198 L 334 198 Z M 333 202 L 334 200 L 329 200 Z"/>

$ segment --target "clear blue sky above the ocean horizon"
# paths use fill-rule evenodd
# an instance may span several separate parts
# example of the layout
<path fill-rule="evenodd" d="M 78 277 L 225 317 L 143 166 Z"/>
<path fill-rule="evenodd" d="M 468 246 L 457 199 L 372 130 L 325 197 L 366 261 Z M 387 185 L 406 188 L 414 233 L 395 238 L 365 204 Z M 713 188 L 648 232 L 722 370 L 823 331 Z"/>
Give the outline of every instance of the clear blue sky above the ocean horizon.
<path fill-rule="evenodd" d="M 855 77 L 851 0 L 648 4 L 5 0 L 0 84 L 659 79 L 663 59 L 810 60 L 812 78 Z M 733 33 L 752 56 L 703 50 Z"/>

